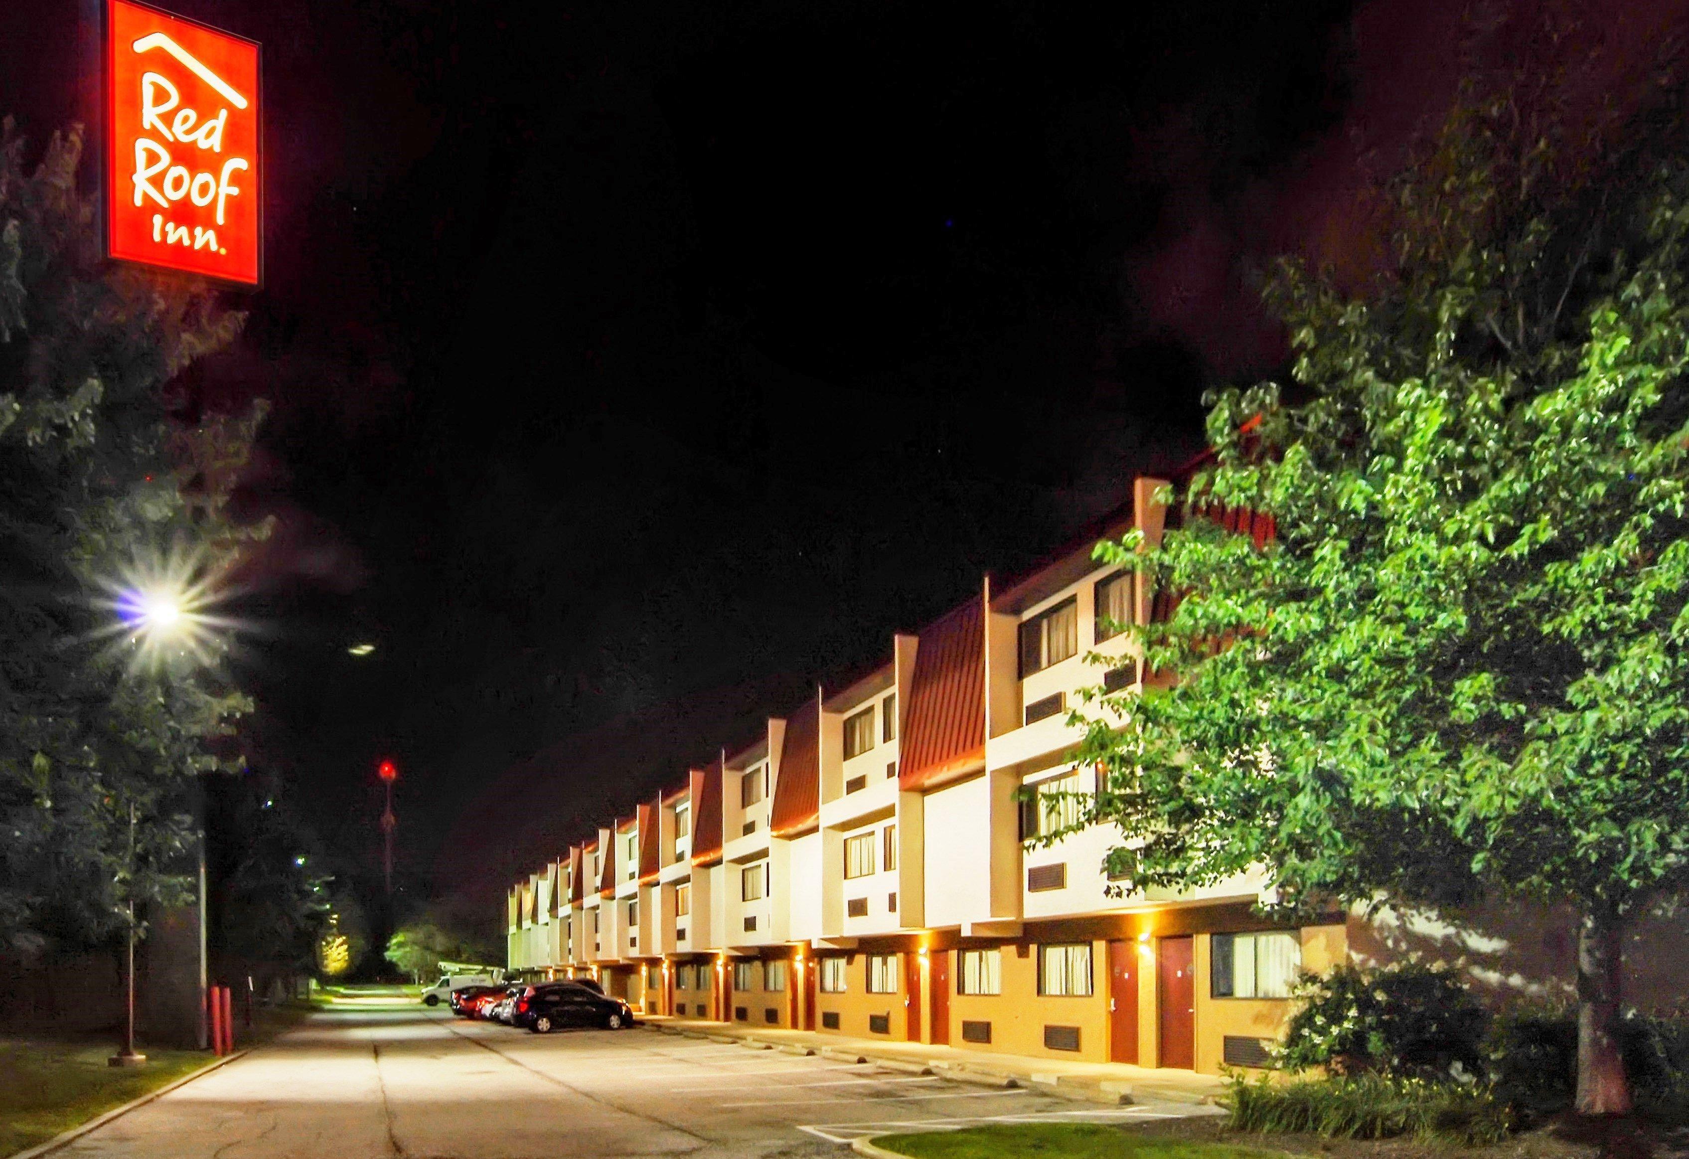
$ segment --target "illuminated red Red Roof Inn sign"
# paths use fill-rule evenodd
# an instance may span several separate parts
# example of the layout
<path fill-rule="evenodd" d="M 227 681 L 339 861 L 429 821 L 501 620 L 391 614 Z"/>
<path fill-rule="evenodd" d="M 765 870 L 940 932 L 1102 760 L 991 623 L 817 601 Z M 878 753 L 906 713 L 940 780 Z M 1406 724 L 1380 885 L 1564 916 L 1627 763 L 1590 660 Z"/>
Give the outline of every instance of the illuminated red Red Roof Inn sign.
<path fill-rule="evenodd" d="M 258 46 L 106 0 L 106 252 L 257 286 Z"/>

